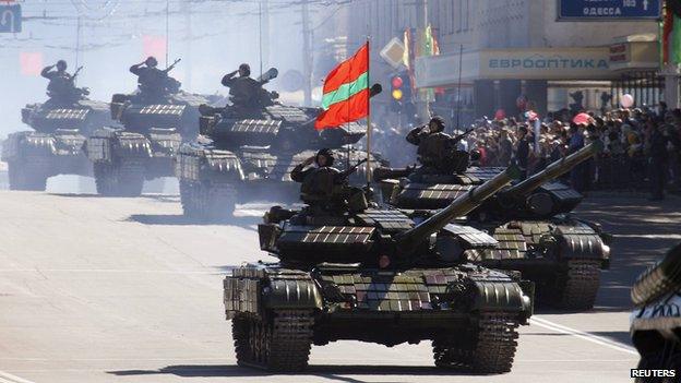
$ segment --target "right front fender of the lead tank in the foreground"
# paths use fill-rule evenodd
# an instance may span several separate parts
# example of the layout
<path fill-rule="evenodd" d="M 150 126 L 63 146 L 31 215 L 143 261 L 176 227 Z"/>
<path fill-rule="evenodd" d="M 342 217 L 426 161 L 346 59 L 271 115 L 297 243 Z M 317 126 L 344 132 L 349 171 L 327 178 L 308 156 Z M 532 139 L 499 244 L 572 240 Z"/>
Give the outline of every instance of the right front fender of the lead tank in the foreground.
<path fill-rule="evenodd" d="M 473 310 L 531 313 L 531 299 L 515 282 L 474 280 L 471 290 Z"/>

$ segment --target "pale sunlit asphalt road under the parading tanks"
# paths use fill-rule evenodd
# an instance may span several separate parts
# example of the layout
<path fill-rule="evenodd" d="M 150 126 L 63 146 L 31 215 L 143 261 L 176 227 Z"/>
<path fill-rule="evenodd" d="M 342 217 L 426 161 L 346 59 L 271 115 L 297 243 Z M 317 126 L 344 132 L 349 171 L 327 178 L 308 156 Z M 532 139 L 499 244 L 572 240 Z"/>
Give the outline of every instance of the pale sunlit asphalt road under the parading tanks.
<path fill-rule="evenodd" d="M 222 276 L 258 250 L 264 206 L 228 225 L 193 225 L 176 196 L 0 192 L 0 383 L 72 382 L 626 382 L 629 286 L 681 240 L 681 200 L 590 198 L 582 210 L 614 232 L 596 310 L 539 310 L 513 371 L 452 374 L 429 344 L 314 347 L 301 375 L 236 367 Z M 674 212 L 674 207 L 677 212 Z"/>

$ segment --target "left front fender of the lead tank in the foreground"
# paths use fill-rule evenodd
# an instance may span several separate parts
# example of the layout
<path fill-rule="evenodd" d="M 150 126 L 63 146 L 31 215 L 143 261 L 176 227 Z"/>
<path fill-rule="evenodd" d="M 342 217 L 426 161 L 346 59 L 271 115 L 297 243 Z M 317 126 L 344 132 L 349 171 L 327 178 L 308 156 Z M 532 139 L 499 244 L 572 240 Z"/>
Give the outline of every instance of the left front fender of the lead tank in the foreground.
<path fill-rule="evenodd" d="M 266 309 L 321 309 L 322 295 L 311 278 L 277 279 L 262 289 Z"/>

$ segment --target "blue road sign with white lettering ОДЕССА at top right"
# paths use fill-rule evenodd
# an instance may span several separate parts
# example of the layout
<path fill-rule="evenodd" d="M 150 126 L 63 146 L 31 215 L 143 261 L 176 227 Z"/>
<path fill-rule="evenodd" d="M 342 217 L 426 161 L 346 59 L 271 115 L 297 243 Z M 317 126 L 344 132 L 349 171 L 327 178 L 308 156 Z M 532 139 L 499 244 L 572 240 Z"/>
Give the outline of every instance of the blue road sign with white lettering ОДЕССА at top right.
<path fill-rule="evenodd" d="M 661 17 L 662 0 L 558 0 L 558 20 L 618 21 Z"/>

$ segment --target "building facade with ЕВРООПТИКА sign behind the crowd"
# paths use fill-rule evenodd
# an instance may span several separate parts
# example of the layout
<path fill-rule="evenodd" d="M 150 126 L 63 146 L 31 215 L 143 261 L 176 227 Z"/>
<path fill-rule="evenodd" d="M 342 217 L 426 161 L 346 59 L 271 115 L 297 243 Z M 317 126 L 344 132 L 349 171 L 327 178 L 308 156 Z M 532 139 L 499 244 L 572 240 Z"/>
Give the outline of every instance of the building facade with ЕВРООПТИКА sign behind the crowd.
<path fill-rule="evenodd" d="M 416 60 L 416 86 L 444 88 L 431 105 L 433 111 L 452 118 L 465 113 L 467 122 L 498 109 L 516 115 L 521 96 L 547 112 L 566 106 L 565 89 L 580 86 L 616 93 L 619 84 L 629 84 L 641 88 L 642 104 L 660 98 L 659 82 L 631 80 L 654 79 L 650 73 L 659 71 L 656 21 L 557 21 L 558 4 L 558 0 L 354 1 L 343 13 L 347 29 L 332 33 L 347 34 L 348 51 L 369 36 L 372 80 L 386 85 L 404 68 L 389 64 L 380 49 L 395 37 L 402 39 L 407 28 L 418 34 L 431 25 L 440 56 Z M 617 103 L 618 95 L 613 96 Z M 389 103 L 386 92 L 374 105 L 384 108 Z"/>

